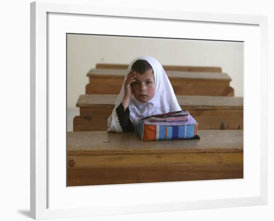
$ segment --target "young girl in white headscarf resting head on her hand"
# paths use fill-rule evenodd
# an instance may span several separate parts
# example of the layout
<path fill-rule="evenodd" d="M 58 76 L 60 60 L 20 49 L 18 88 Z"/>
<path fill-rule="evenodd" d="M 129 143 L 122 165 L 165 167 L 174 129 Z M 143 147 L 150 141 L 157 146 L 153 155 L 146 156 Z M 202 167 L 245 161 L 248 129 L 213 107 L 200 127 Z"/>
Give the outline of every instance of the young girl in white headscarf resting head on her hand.
<path fill-rule="evenodd" d="M 171 83 L 154 58 L 136 58 L 128 67 L 123 86 L 108 118 L 108 132 L 137 130 L 142 118 L 181 110 Z"/>

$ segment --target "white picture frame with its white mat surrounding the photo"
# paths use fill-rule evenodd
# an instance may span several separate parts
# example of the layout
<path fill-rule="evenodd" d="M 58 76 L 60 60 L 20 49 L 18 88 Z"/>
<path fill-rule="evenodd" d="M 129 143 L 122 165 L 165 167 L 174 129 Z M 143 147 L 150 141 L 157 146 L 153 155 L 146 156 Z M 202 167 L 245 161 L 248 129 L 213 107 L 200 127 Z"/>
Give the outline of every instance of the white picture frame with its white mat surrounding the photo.
<path fill-rule="evenodd" d="M 73 167 L 74 161 L 68 161 L 67 156 L 67 92 L 68 85 L 77 84 L 77 78 L 67 75 L 68 63 L 77 61 L 77 51 L 72 60 L 68 59 L 68 43 L 73 44 L 73 36 L 240 43 L 244 73 L 243 177 L 68 185 L 68 166 Z M 123 40 L 120 42 L 123 44 Z M 122 44 L 110 47 L 124 47 Z M 178 52 L 174 56 L 177 58 Z M 32 2 L 31 217 L 54 219 L 267 204 L 266 61 L 266 16 Z M 168 65 L 167 60 L 164 62 Z M 240 81 L 241 77 L 236 79 Z M 234 87 L 237 85 L 235 82 Z M 74 153 L 80 155 L 77 151 Z"/>

